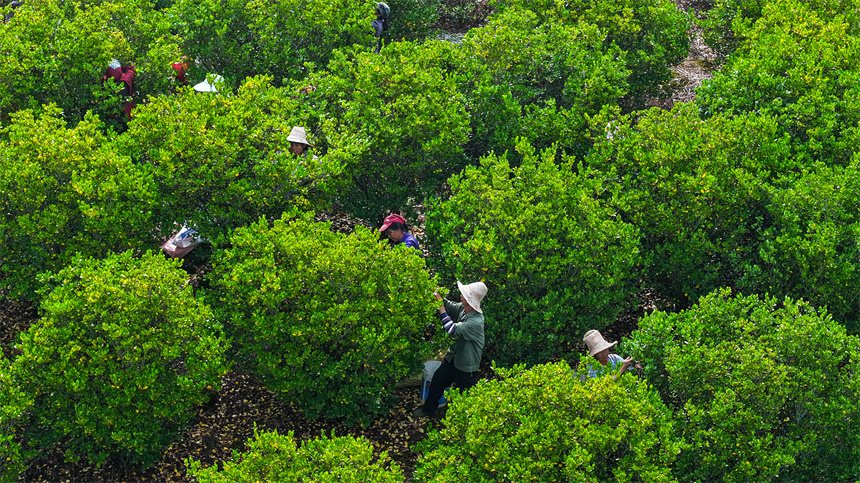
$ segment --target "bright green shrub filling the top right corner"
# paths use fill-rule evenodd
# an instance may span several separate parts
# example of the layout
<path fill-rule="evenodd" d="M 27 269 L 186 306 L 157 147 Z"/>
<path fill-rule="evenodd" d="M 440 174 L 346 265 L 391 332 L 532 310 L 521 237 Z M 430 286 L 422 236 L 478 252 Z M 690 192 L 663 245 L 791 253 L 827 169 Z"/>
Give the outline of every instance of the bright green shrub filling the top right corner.
<path fill-rule="evenodd" d="M 768 4 L 742 51 L 698 89 L 703 115 L 771 116 L 801 166 L 848 164 L 860 145 L 860 35 L 852 28 L 804 2 Z"/>

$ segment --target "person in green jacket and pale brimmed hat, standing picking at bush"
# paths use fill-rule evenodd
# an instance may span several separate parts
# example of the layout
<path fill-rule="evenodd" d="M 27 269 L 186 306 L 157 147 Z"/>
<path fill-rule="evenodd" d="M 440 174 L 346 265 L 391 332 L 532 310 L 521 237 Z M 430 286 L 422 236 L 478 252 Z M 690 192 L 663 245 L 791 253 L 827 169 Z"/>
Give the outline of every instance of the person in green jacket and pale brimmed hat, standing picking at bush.
<path fill-rule="evenodd" d="M 430 392 L 424 405 L 416 409 L 412 416 L 421 418 L 436 414 L 439 398 L 452 384 L 460 389 L 468 389 L 478 383 L 478 367 L 484 351 L 484 311 L 481 300 L 487 295 L 483 282 L 463 285 L 459 281 L 460 303 L 443 299 L 438 317 L 442 327 L 454 338 L 448 348 L 442 365 L 436 369 L 430 381 Z"/>

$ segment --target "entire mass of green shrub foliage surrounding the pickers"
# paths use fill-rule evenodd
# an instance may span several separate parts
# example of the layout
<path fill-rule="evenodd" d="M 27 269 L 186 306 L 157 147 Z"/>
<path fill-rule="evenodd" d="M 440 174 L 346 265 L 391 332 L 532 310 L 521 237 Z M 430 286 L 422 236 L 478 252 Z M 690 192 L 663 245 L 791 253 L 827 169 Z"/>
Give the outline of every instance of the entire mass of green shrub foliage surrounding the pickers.
<path fill-rule="evenodd" d="M 380 54 L 375 3 L 27 0 L 0 23 L 0 298 L 46 297 L 2 334 L 0 480 L 55 451 L 155 460 L 217 390 L 226 336 L 307 416 L 385 413 L 442 340 L 423 340 L 436 279 L 313 220 L 395 210 L 426 210 L 445 285 L 487 283 L 504 366 L 578 352 L 637 290 L 701 300 L 628 342 L 648 384 L 555 365 L 455 392 L 417 480 L 860 479 L 857 0 L 685 4 L 725 65 L 669 112 L 640 110 L 688 53 L 669 0 L 392 0 Z M 477 28 L 430 39 L 454 24 Z M 182 55 L 220 92 L 181 86 Z M 127 98 L 111 59 L 136 69 Z M 187 267 L 214 266 L 211 311 L 178 263 L 136 258 L 183 224 L 213 241 Z M 249 448 L 189 465 L 403 479 L 364 441 Z"/>

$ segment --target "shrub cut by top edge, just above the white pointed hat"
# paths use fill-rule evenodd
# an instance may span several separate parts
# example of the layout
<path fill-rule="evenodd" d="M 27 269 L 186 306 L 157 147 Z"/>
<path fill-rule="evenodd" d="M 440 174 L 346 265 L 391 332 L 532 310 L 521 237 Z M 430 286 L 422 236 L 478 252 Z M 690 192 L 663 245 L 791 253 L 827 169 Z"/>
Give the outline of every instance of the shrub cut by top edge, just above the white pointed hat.
<path fill-rule="evenodd" d="M 191 75 L 271 76 L 275 85 L 307 75 L 305 63 L 325 66 L 334 51 L 370 50 L 376 2 L 333 0 L 177 0 L 165 15 L 195 60 Z"/>

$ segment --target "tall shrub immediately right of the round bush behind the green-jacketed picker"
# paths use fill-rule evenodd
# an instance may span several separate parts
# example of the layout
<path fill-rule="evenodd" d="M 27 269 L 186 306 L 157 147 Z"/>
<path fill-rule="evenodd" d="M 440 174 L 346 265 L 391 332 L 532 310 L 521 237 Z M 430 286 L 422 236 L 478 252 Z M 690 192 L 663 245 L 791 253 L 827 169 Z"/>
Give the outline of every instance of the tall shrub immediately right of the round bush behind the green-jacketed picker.
<path fill-rule="evenodd" d="M 757 263 L 774 184 L 796 168 L 775 120 L 703 121 L 694 106 L 678 106 L 652 109 L 635 126 L 594 124 L 586 163 L 607 180 L 621 218 L 641 230 L 645 284 L 680 307 L 735 286 Z"/>

